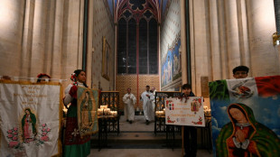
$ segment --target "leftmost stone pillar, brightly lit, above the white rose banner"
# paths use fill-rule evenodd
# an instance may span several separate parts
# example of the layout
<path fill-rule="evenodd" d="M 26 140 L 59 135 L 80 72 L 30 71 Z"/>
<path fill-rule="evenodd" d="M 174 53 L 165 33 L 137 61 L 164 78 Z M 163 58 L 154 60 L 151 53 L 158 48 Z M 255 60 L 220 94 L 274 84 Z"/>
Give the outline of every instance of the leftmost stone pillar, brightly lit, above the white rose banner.
<path fill-rule="evenodd" d="M 24 1 L 0 1 L 0 76 L 20 75 Z"/>

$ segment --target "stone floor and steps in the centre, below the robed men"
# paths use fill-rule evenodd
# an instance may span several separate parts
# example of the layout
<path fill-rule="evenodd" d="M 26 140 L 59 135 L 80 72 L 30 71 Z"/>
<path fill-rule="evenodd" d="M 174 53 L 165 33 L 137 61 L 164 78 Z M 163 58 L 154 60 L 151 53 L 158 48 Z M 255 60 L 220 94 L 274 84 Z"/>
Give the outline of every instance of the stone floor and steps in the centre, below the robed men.
<path fill-rule="evenodd" d="M 120 134 L 108 135 L 108 147 L 98 150 L 91 149 L 90 157 L 180 157 L 182 148 L 180 135 L 174 149 L 164 147 L 165 134 L 154 135 L 154 122 L 145 125 L 143 115 L 135 115 L 133 124 L 126 122 L 124 116 L 120 118 Z M 93 147 L 97 147 L 97 135 L 94 137 Z M 199 149 L 198 157 L 211 157 L 212 153 Z"/>

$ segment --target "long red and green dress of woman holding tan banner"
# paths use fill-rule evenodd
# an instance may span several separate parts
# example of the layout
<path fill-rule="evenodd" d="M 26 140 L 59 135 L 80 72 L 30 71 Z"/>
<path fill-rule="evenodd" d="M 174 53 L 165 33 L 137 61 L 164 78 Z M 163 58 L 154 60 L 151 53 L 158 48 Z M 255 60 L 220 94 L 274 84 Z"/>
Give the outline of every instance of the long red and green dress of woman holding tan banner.
<path fill-rule="evenodd" d="M 78 86 L 83 87 L 83 85 L 79 82 Z M 63 152 L 64 157 L 83 157 L 88 156 L 90 153 L 90 135 L 83 136 L 82 138 L 79 135 L 77 119 L 77 90 L 78 87 L 73 85 L 69 91 L 72 100 L 67 112 Z"/>

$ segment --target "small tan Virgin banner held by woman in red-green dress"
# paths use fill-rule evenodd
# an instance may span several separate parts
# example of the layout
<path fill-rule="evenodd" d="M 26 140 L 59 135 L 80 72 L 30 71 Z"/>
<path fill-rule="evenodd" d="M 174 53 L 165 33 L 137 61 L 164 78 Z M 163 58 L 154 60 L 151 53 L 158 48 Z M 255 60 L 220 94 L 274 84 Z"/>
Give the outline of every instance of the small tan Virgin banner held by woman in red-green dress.
<path fill-rule="evenodd" d="M 78 126 L 81 136 L 98 132 L 98 90 L 78 88 Z"/>

